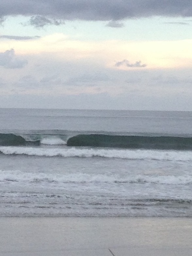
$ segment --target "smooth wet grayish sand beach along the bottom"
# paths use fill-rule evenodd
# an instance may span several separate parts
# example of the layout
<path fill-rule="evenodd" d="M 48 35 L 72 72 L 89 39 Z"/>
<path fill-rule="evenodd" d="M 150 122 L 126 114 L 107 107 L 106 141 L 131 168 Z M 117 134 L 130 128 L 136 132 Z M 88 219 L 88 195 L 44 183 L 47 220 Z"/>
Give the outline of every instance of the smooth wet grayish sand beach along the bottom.
<path fill-rule="evenodd" d="M 191 218 L 1 217 L 2 256 L 191 255 Z"/>

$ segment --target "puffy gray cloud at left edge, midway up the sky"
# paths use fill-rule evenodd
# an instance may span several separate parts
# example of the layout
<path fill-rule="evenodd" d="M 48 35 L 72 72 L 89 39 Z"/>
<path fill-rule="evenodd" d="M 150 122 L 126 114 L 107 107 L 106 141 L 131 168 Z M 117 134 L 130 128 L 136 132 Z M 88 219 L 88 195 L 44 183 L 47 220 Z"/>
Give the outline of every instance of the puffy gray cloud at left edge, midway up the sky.
<path fill-rule="evenodd" d="M 0 66 L 6 69 L 21 69 L 27 65 L 27 60 L 15 56 L 14 49 L 0 53 Z"/>

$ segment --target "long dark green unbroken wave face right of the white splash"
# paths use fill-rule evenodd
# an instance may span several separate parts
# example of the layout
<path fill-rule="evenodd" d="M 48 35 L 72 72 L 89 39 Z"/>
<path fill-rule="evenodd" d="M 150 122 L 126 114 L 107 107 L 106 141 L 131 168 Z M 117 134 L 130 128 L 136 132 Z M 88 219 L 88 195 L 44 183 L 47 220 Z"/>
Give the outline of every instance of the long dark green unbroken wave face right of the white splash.
<path fill-rule="evenodd" d="M 67 146 L 192 150 L 192 137 L 83 134 L 69 138 Z"/>

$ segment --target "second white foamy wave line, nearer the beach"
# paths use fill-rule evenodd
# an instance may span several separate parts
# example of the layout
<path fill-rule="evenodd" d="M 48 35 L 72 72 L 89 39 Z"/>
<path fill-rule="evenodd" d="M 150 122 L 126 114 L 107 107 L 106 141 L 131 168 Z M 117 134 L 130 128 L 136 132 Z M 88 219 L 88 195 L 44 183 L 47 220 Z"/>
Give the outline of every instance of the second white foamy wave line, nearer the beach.
<path fill-rule="evenodd" d="M 88 174 L 88 173 L 26 173 L 19 170 L 0 170 L 0 182 L 29 182 L 29 183 L 136 183 L 136 184 L 168 184 L 190 185 L 192 176 L 150 176 L 131 175 L 120 177 L 118 174 Z"/>

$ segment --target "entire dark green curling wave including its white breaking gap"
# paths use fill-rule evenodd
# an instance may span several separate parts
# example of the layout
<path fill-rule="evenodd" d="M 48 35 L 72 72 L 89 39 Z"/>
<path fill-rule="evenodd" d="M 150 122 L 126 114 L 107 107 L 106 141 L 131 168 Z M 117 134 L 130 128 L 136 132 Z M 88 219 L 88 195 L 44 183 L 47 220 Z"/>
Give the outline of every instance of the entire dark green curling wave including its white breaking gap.
<path fill-rule="evenodd" d="M 43 131 L 41 131 L 43 132 Z M 44 131 L 45 132 L 45 131 Z M 192 137 L 117 134 L 0 134 L 0 146 L 67 145 L 127 149 L 192 150 Z"/>

